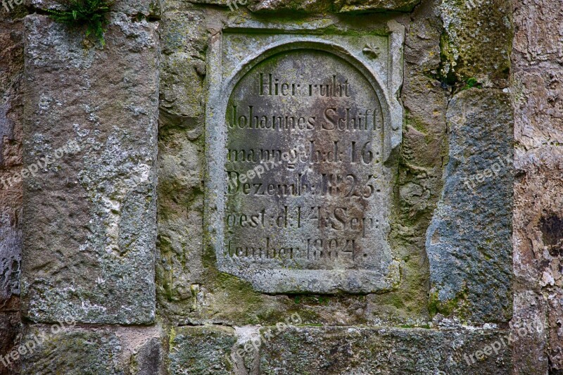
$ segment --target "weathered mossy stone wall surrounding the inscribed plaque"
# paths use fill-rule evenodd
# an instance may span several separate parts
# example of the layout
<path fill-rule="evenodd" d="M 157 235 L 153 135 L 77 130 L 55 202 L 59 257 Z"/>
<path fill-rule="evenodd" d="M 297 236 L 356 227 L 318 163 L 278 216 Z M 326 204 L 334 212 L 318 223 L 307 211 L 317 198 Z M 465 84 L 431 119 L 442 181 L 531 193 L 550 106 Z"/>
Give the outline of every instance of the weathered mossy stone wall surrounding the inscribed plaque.
<path fill-rule="evenodd" d="M 120 0 L 103 48 L 26 6 L 0 9 L 0 178 L 37 166 L 0 186 L 0 374 L 563 373 L 559 0 Z M 404 32 L 384 291 L 217 266 L 211 46 L 288 30 Z"/>

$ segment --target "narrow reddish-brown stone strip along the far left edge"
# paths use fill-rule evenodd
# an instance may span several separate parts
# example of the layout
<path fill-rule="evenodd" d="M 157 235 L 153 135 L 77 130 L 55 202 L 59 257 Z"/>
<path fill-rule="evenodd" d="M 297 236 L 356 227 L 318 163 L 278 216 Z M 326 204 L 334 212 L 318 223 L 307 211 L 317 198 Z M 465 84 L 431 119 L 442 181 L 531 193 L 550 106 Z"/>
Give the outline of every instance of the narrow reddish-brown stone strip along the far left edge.
<path fill-rule="evenodd" d="M 22 182 L 8 178 L 22 167 L 23 6 L 0 8 L 0 355 L 20 339 Z M 18 361 L 0 375 L 19 374 Z"/>

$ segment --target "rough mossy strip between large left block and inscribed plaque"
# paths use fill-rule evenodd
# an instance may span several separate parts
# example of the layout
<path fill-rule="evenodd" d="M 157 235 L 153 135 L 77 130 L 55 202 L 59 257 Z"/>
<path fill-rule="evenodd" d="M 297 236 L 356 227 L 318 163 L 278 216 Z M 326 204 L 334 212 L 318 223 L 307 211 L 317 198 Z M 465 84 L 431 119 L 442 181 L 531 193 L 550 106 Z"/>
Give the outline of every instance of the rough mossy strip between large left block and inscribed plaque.
<path fill-rule="evenodd" d="M 165 13 L 161 20 L 156 277 L 158 303 L 170 317 L 194 310 L 204 271 L 204 20 L 199 11 Z"/>

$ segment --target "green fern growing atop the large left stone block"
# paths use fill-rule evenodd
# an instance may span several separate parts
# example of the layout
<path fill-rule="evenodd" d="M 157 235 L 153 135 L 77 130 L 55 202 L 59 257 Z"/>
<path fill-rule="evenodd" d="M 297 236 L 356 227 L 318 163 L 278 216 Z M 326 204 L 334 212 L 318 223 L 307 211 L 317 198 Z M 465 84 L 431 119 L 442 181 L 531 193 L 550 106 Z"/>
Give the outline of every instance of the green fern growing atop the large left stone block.
<path fill-rule="evenodd" d="M 58 23 L 86 29 L 86 37 L 96 37 L 102 46 L 107 15 L 113 0 L 72 0 L 65 11 L 49 10 L 49 16 Z"/>

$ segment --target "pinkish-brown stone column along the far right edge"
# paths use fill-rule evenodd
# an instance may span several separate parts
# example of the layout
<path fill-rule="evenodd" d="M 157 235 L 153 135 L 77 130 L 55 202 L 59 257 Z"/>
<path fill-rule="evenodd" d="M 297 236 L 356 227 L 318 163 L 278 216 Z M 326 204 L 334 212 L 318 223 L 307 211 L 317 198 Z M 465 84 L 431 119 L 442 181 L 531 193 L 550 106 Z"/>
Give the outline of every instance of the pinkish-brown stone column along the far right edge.
<path fill-rule="evenodd" d="M 562 374 L 563 7 L 513 4 L 514 315 L 545 327 L 514 345 L 514 374 Z"/>

